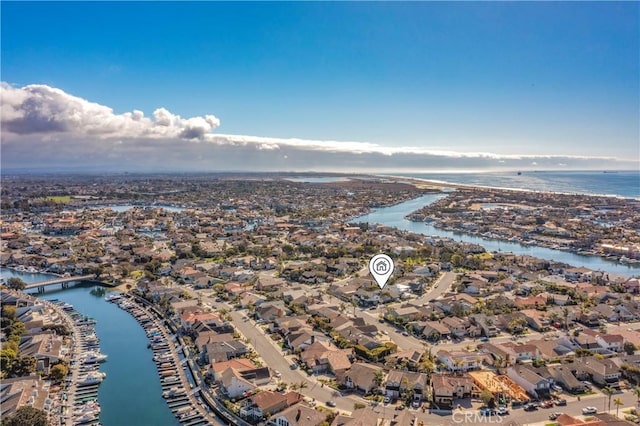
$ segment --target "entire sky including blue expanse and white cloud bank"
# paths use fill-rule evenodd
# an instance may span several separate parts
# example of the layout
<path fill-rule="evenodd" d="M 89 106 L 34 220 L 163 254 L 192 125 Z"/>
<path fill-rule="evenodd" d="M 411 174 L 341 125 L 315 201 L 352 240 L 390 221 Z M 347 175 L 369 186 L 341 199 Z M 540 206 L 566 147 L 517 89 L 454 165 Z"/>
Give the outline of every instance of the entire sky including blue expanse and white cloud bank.
<path fill-rule="evenodd" d="M 3 2 L 0 166 L 640 169 L 639 12 Z"/>

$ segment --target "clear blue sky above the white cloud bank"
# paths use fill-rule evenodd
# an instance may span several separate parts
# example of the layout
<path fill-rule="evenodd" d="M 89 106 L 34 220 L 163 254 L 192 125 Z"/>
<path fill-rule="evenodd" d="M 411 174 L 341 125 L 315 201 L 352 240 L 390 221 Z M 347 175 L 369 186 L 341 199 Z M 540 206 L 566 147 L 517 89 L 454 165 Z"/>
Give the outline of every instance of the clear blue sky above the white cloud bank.
<path fill-rule="evenodd" d="M 3 1 L 2 81 L 115 115 L 215 115 L 207 134 L 637 161 L 639 8 Z"/>

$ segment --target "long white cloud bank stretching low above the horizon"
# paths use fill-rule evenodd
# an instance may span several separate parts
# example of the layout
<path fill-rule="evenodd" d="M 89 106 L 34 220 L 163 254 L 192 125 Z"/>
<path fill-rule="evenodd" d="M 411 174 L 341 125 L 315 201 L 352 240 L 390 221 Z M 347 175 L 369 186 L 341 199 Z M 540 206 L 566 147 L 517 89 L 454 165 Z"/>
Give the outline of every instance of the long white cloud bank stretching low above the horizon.
<path fill-rule="evenodd" d="M 585 156 L 501 155 L 368 142 L 217 134 L 214 115 L 182 118 L 165 108 L 115 114 L 45 86 L 0 85 L 2 164 L 140 170 L 327 170 L 637 168 Z M 92 166 L 93 165 L 93 166 Z M 560 166 L 561 165 L 561 166 Z"/>

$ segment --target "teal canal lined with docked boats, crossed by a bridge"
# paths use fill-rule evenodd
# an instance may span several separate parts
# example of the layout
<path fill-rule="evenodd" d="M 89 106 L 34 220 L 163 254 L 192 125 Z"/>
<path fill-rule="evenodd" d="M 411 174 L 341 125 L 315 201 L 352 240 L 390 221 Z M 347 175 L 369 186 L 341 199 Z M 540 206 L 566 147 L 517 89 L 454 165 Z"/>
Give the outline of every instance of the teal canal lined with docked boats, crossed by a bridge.
<path fill-rule="evenodd" d="M 23 281 L 38 282 L 51 279 L 48 274 L 20 273 L 0 269 L 7 280 L 19 277 Z M 100 288 L 81 284 L 64 290 L 48 290 L 37 295 L 42 299 L 58 299 L 72 304 L 83 315 L 97 321 L 96 334 L 100 350 L 108 356 L 100 370 L 107 373 L 98 391 L 102 408 L 100 423 L 105 426 L 164 426 L 179 425 L 162 398 L 160 378 L 147 348 L 147 336 L 136 320 L 104 296 L 92 294 Z"/>

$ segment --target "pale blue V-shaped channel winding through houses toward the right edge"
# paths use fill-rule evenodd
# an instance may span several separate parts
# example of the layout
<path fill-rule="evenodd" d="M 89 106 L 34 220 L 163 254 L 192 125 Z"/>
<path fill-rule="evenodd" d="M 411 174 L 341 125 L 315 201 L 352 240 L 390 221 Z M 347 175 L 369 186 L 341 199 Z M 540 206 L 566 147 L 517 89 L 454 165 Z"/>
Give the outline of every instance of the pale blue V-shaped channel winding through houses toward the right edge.
<path fill-rule="evenodd" d="M 602 259 L 597 256 L 583 256 L 562 250 L 554 250 L 538 246 L 524 246 L 522 244 L 509 241 L 482 238 L 461 232 L 446 231 L 438 229 L 429 223 L 412 222 L 405 219 L 405 216 L 409 213 L 419 210 L 443 197 L 445 197 L 444 194 L 423 195 L 394 206 L 376 208 L 371 213 L 357 217 L 351 222 L 381 224 L 427 236 L 433 235 L 452 238 L 456 241 L 479 244 L 489 252 L 511 252 L 518 255 L 530 255 L 540 259 L 553 260 L 572 266 L 582 266 L 596 271 L 608 272 L 610 274 L 622 274 L 627 276 L 640 274 L 640 265 L 624 265 L 618 262 Z"/>

